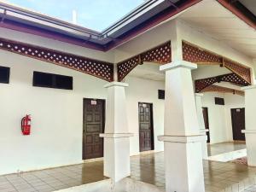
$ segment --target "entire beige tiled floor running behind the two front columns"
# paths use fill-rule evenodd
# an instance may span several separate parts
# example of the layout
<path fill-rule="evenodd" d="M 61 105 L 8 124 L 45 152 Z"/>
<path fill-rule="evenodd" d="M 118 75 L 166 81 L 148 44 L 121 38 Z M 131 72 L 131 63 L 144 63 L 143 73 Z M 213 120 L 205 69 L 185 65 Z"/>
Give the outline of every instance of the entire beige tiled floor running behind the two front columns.
<path fill-rule="evenodd" d="M 231 189 L 228 190 L 229 192 L 237 191 L 236 189 L 244 188 L 248 183 L 254 182 L 254 177 L 256 177 L 256 168 L 253 167 L 207 160 L 203 164 L 207 191 L 219 192 L 228 187 Z M 103 177 L 103 163 L 98 161 L 0 176 L 0 192 L 55 191 L 96 182 L 104 178 L 106 177 Z M 131 157 L 131 178 L 164 188 L 166 183 L 164 154 L 145 154 Z"/>

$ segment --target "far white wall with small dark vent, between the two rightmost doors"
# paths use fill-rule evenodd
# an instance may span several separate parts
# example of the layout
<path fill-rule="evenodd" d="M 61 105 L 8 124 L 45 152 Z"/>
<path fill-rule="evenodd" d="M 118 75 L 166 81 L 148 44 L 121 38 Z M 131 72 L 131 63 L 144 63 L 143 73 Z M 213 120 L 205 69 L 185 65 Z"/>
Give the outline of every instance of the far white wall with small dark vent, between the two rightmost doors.
<path fill-rule="evenodd" d="M 225 105 L 215 105 L 214 97 L 224 98 Z M 233 141 L 231 108 L 244 108 L 244 96 L 222 93 L 204 93 L 202 106 L 208 108 L 210 142 Z"/>

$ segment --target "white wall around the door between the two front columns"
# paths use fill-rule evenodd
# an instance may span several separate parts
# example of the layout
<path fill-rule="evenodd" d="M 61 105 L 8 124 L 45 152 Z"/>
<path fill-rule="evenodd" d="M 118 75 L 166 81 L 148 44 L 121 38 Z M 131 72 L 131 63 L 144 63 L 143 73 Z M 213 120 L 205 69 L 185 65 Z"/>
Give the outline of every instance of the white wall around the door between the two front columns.
<path fill-rule="evenodd" d="M 125 83 L 131 84 L 127 88 L 127 109 L 130 131 L 135 133 L 131 137 L 131 154 L 139 151 L 138 102 L 153 103 L 154 119 L 154 150 L 164 150 L 164 143 L 158 141 L 157 136 L 164 134 L 164 100 L 158 99 L 158 90 L 164 90 L 165 84 L 137 78 L 126 78 Z"/>

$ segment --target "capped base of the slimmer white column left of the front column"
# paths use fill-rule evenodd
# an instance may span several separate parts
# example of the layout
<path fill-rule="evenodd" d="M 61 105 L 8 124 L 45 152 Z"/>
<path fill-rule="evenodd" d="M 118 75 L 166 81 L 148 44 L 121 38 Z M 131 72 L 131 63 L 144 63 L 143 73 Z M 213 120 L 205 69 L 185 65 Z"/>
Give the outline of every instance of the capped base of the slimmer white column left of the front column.
<path fill-rule="evenodd" d="M 130 168 L 130 137 L 131 133 L 105 133 L 104 137 L 104 176 L 114 182 L 129 177 Z"/>

